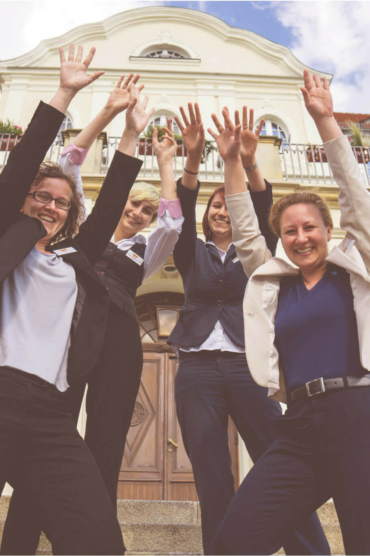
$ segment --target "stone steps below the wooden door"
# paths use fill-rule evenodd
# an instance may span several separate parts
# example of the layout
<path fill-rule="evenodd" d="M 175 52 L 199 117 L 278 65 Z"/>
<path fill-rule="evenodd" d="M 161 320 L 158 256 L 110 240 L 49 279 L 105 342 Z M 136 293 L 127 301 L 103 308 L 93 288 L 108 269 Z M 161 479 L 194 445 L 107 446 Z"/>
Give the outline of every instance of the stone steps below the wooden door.
<path fill-rule="evenodd" d="M 10 497 L 0 500 L 0 533 Z M 341 530 L 332 502 L 318 510 L 332 554 L 344 554 Z M 163 500 L 118 500 L 118 520 L 123 531 L 127 555 L 202 554 L 200 509 L 197 502 Z M 283 554 L 282 551 L 279 554 Z M 37 554 L 52 554 L 42 535 Z"/>

